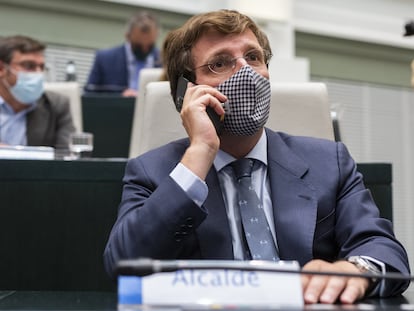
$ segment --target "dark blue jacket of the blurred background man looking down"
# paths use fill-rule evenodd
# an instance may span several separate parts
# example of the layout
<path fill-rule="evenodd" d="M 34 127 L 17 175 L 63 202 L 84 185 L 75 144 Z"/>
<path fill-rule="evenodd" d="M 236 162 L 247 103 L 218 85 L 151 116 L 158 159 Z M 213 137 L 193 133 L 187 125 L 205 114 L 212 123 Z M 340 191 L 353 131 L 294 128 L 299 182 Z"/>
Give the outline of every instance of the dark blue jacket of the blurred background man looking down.
<path fill-rule="evenodd" d="M 159 64 L 159 50 L 154 49 L 156 63 Z M 96 52 L 85 92 L 122 93 L 129 87 L 128 65 L 125 45 Z"/>

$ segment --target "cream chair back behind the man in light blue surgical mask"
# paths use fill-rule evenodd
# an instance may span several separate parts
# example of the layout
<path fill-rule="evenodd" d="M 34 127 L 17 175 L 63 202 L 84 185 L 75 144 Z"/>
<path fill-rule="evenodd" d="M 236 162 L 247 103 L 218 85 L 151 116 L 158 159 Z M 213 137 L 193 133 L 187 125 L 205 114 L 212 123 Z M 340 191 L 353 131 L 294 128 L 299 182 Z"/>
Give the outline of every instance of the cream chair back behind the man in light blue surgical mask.
<path fill-rule="evenodd" d="M 72 114 L 73 124 L 77 131 L 83 130 L 81 91 L 77 82 L 45 82 L 45 91 L 52 91 L 65 95 L 69 98 L 70 112 Z"/>

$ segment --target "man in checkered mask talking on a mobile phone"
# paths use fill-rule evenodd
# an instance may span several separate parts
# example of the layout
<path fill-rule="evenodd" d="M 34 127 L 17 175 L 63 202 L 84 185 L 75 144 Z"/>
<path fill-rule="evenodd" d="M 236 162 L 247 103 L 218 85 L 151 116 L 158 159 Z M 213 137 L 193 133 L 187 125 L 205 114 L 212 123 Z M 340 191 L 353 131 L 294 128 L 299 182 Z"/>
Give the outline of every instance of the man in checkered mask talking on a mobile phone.
<path fill-rule="evenodd" d="M 407 253 L 346 147 L 264 127 L 272 54 L 249 17 L 196 15 L 164 47 L 189 138 L 129 160 L 104 253 L 109 273 L 121 259 L 146 257 L 296 260 L 310 271 L 409 275 Z M 185 93 L 177 92 L 182 76 L 191 81 Z M 211 111 L 224 115 L 218 129 Z M 249 171 L 239 176 L 240 167 Z M 303 275 L 302 285 L 305 303 L 353 303 L 398 295 L 409 281 Z"/>

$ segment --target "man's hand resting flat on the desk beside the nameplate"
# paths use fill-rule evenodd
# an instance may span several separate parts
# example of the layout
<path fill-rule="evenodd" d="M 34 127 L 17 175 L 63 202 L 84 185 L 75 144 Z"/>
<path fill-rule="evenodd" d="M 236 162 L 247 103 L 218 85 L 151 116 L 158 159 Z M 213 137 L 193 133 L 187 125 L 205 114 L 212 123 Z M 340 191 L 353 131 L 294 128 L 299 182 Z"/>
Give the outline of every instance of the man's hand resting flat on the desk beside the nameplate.
<path fill-rule="evenodd" d="M 360 273 L 352 263 L 337 261 L 334 263 L 323 260 L 312 260 L 304 267 L 304 271 Z M 364 297 L 369 286 L 366 278 L 350 278 L 339 276 L 303 275 L 302 288 L 304 301 L 311 303 L 334 303 L 338 299 L 341 303 L 350 304 Z"/>

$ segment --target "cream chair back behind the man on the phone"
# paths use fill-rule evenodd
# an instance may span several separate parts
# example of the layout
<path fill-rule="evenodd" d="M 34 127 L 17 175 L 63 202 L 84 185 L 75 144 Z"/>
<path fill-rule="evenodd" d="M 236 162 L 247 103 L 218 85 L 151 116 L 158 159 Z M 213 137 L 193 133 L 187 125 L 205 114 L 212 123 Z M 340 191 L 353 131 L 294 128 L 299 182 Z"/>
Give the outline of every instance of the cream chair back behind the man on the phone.
<path fill-rule="evenodd" d="M 139 122 L 130 150 L 135 157 L 186 137 L 167 81 L 150 82 L 140 91 Z M 323 83 L 274 83 L 267 127 L 294 135 L 334 140 L 326 86 Z M 132 147 L 134 145 L 134 147 Z"/>

